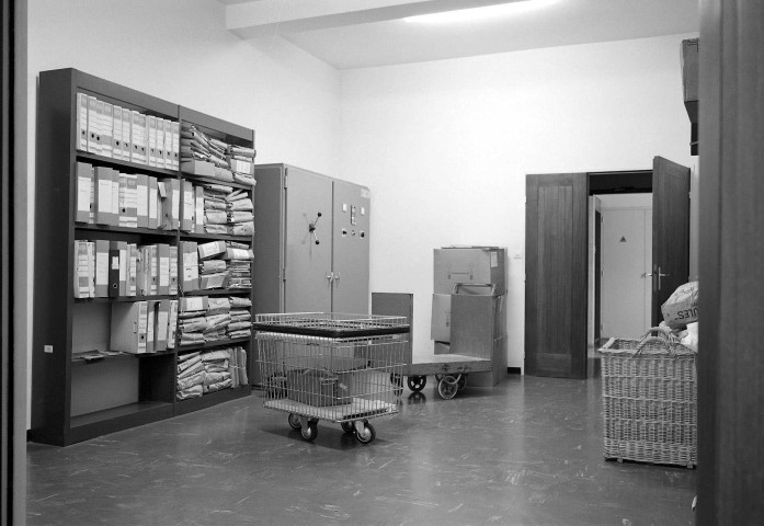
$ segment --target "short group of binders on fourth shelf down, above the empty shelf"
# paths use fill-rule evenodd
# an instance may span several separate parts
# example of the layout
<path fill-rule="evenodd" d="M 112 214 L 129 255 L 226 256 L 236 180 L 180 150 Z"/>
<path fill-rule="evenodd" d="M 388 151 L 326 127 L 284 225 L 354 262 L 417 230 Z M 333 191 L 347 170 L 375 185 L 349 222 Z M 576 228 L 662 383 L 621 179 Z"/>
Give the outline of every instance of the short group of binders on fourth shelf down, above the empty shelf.
<path fill-rule="evenodd" d="M 144 354 L 174 348 L 178 300 L 113 304 L 111 328 L 111 351 Z"/>

